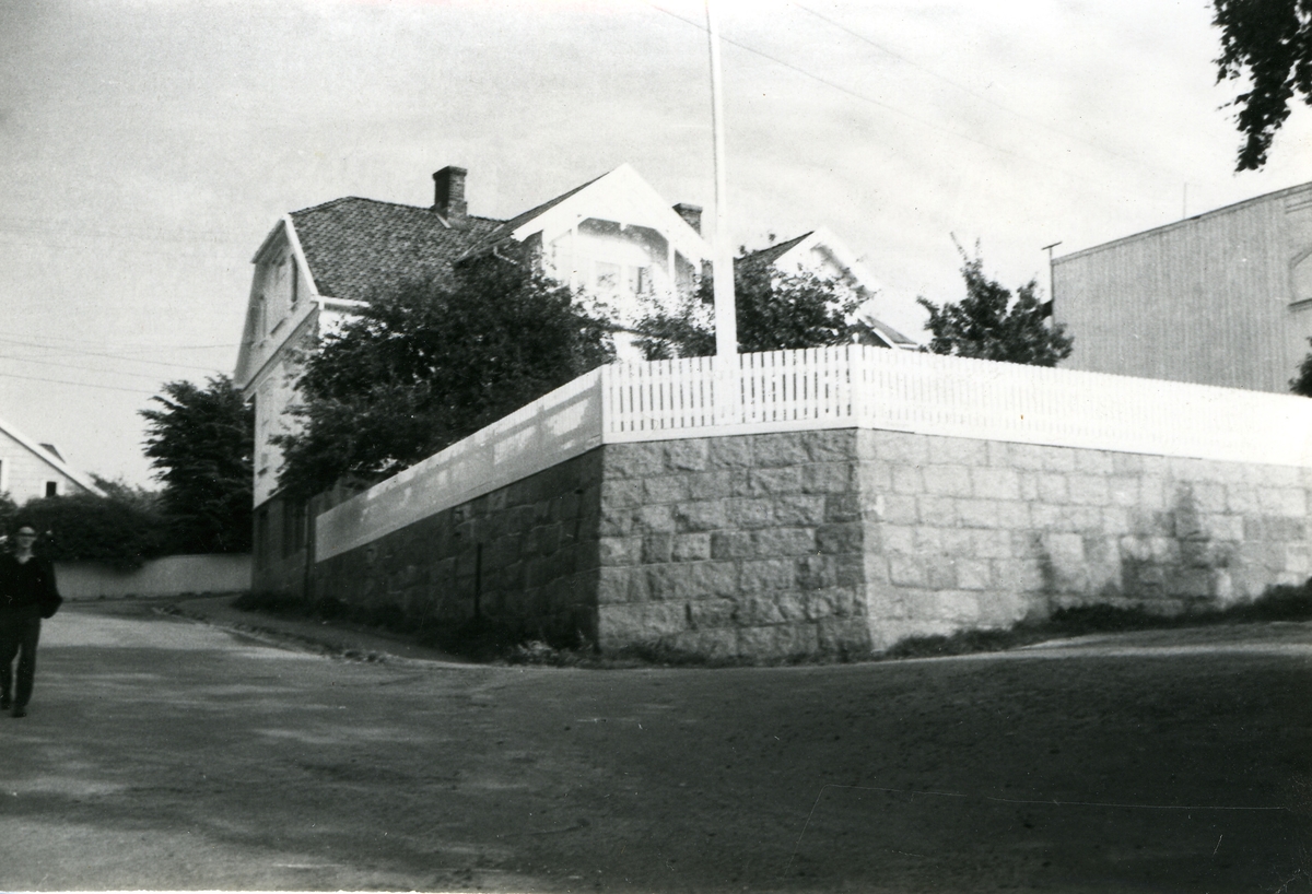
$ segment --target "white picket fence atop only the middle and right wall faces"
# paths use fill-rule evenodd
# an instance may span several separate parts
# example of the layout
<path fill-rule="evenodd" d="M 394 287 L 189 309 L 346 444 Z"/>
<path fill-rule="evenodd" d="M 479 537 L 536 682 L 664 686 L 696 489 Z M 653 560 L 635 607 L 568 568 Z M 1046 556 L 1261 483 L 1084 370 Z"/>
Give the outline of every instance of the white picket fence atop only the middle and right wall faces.
<path fill-rule="evenodd" d="M 1312 401 L 865 345 L 602 370 L 602 439 L 869 427 L 922 434 L 1312 464 Z M 718 400 L 724 395 L 724 400 Z"/>

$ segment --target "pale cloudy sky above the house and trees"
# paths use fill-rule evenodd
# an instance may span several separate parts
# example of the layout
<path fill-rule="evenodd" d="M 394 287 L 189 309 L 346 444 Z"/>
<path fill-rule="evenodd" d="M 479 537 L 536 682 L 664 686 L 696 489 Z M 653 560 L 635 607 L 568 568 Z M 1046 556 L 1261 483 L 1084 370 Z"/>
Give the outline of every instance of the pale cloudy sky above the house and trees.
<path fill-rule="evenodd" d="M 716 0 L 733 246 L 827 227 L 924 338 L 956 245 L 1048 254 L 1312 181 L 1312 109 L 1261 172 L 1202 0 Z M 251 258 L 344 195 L 468 169 L 513 216 L 619 164 L 714 211 L 701 0 L 0 0 L 0 419 L 156 486 L 139 412 L 236 362 Z M 1078 333 L 1075 333 L 1078 338 Z"/>

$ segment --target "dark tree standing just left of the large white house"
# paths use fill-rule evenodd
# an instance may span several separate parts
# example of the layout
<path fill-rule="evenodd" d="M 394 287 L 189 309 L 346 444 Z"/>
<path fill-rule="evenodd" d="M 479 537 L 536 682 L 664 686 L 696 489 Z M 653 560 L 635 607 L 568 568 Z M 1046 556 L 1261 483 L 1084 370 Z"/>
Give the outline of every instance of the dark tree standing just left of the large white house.
<path fill-rule="evenodd" d="M 251 452 L 255 412 L 228 376 L 202 388 L 169 381 L 146 409 L 146 455 L 164 484 L 160 509 L 174 552 L 251 549 Z"/>

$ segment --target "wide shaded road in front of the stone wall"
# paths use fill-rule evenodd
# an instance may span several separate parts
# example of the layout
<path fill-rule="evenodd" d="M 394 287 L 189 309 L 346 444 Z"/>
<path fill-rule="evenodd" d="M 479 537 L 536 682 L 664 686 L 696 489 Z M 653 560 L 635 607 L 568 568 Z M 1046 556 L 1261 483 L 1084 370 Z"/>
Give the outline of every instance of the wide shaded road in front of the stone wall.
<path fill-rule="evenodd" d="M 1309 682 L 1300 624 L 558 671 L 70 606 L 0 717 L 0 889 L 1308 890 Z"/>

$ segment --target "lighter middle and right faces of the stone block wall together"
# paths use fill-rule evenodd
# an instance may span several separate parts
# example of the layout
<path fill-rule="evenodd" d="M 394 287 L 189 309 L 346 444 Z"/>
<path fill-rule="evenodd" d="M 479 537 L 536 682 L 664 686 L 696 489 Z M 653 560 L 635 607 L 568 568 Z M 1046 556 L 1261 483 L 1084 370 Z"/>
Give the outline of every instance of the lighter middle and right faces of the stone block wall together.
<path fill-rule="evenodd" d="M 1308 471 L 870 430 L 606 447 L 601 642 L 883 649 L 1309 570 Z"/>

